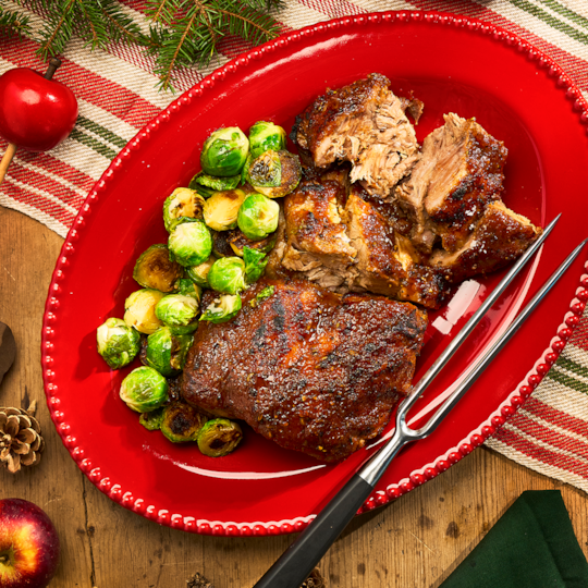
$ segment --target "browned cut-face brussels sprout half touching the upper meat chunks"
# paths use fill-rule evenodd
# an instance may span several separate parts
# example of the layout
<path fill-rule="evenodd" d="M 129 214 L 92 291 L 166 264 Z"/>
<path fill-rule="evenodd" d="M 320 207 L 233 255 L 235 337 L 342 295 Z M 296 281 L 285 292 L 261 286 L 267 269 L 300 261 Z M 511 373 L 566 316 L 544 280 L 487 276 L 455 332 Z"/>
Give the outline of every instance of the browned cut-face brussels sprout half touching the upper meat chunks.
<path fill-rule="evenodd" d="M 290 151 L 271 149 L 254 159 L 247 181 L 268 198 L 280 198 L 294 191 L 302 176 L 301 160 Z"/>

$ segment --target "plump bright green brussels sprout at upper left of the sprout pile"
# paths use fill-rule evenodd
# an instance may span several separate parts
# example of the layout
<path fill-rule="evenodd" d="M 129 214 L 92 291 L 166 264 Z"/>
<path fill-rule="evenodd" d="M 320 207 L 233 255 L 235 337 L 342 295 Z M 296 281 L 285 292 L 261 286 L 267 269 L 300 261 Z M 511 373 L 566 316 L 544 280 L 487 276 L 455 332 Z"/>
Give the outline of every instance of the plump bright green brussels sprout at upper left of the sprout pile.
<path fill-rule="evenodd" d="M 237 175 L 247 154 L 249 139 L 237 126 L 215 131 L 206 140 L 200 154 L 203 171 L 210 175 L 226 177 Z"/>

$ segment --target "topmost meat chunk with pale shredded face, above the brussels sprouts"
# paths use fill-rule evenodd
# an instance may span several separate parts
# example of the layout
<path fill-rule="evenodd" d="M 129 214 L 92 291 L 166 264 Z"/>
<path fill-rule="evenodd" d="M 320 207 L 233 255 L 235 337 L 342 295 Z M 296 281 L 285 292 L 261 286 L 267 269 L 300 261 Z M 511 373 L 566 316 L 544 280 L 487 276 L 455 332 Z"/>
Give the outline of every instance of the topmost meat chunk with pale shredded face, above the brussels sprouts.
<path fill-rule="evenodd" d="M 397 98 L 389 86 L 383 75 L 370 74 L 328 90 L 305 110 L 294 130 L 296 143 L 310 151 L 316 166 L 351 161 L 351 181 L 382 197 L 418 160 L 419 146 L 405 110 L 419 115 L 422 108 L 417 100 Z"/>

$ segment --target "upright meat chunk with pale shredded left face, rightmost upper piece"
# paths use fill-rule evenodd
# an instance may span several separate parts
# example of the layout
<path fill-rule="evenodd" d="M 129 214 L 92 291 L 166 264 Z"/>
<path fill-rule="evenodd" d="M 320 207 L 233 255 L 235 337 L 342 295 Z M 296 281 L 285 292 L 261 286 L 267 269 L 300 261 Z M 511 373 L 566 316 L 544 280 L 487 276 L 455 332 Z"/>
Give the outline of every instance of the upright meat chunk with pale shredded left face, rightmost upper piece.
<path fill-rule="evenodd" d="M 422 155 L 396 196 L 413 215 L 413 238 L 431 250 L 436 236 L 446 252 L 469 238 L 486 206 L 500 199 L 507 150 L 474 119 L 450 113 L 425 138 Z"/>

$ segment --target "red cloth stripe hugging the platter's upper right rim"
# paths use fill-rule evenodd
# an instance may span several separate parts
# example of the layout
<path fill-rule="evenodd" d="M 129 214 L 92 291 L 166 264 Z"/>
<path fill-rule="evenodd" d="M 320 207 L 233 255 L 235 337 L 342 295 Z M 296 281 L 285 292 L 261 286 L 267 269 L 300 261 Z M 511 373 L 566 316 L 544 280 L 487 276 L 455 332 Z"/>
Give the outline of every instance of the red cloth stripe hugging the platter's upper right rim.
<path fill-rule="evenodd" d="M 487 21 L 497 26 L 501 26 L 518 37 L 529 41 L 531 45 L 554 59 L 565 69 L 573 82 L 581 89 L 588 90 L 588 68 L 586 61 L 580 58 L 551 45 L 546 39 L 538 37 L 527 28 L 524 28 L 513 21 L 509 21 L 501 14 L 474 2 L 463 0 L 411 0 L 411 3 L 421 10 L 439 10 L 456 15 L 470 16 Z"/>

